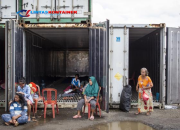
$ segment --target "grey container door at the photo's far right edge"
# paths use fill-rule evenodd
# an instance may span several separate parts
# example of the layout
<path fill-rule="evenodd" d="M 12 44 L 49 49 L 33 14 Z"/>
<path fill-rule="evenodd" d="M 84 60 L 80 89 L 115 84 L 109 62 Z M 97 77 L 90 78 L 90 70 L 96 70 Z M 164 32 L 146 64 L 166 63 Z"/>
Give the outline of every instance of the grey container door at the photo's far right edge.
<path fill-rule="evenodd" d="M 180 28 L 168 28 L 167 104 L 180 103 Z"/>

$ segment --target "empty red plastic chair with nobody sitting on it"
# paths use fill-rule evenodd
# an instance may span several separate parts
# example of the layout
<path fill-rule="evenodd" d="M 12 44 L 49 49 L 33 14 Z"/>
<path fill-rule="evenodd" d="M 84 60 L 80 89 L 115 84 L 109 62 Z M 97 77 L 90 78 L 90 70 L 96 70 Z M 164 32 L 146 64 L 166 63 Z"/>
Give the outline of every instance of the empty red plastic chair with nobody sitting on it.
<path fill-rule="evenodd" d="M 44 92 L 47 92 L 47 99 L 44 97 Z M 51 92 L 55 92 L 55 99 L 52 99 Z M 57 90 L 54 88 L 44 88 L 42 90 L 42 96 L 43 96 L 43 102 L 44 102 L 44 118 L 46 118 L 46 109 L 47 105 L 51 104 L 52 106 L 52 112 L 53 112 L 53 118 L 55 118 L 55 111 L 54 111 L 54 105 L 56 105 L 57 114 L 59 114 L 58 104 L 57 104 Z"/>

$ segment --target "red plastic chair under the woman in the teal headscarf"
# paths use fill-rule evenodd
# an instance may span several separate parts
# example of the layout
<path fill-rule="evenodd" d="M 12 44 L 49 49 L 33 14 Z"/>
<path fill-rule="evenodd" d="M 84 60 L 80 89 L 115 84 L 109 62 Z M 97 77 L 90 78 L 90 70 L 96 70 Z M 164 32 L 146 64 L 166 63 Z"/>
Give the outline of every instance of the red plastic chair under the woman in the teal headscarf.
<path fill-rule="evenodd" d="M 98 92 L 98 96 L 97 96 L 97 100 L 96 100 L 96 115 L 97 115 L 97 108 L 99 108 L 99 116 L 101 117 L 101 107 L 100 107 L 100 104 L 99 104 L 100 91 L 101 91 L 101 87 L 99 86 L 99 92 Z M 84 112 L 85 112 L 85 108 L 86 108 L 86 104 L 84 104 L 83 115 L 84 115 Z M 90 115 L 91 115 L 91 104 L 88 103 L 88 119 L 90 119 Z"/>

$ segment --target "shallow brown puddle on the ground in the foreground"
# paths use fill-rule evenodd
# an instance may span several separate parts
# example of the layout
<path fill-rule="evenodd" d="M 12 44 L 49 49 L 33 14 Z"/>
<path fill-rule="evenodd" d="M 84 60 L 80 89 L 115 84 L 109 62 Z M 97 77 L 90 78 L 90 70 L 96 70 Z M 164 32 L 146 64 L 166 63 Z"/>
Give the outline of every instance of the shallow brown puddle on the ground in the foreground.
<path fill-rule="evenodd" d="M 85 128 L 80 129 L 85 130 Z M 140 122 L 112 122 L 107 124 L 94 125 L 86 130 L 155 130 Z"/>

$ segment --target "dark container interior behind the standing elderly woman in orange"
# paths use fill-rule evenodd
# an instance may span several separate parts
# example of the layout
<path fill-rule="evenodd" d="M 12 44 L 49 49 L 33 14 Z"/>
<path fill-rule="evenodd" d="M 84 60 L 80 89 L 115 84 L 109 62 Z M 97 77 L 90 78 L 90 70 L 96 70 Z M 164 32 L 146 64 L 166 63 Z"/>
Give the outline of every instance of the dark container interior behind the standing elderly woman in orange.
<path fill-rule="evenodd" d="M 143 67 L 149 71 L 149 77 L 154 84 L 153 99 L 158 102 L 156 93 L 160 93 L 160 29 L 129 29 L 129 84 L 133 90 L 132 102 L 138 100 L 136 84 Z"/>

